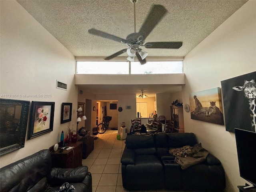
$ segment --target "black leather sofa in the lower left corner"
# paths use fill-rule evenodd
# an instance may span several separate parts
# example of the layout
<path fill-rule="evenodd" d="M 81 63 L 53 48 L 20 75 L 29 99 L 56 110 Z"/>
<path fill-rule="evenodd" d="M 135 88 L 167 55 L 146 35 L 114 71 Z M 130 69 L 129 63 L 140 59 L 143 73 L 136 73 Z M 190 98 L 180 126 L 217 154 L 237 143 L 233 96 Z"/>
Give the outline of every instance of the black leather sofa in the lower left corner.
<path fill-rule="evenodd" d="M 1 192 L 53 192 L 68 182 L 76 192 L 92 192 L 87 166 L 52 168 L 49 150 L 40 150 L 0 169 Z"/>

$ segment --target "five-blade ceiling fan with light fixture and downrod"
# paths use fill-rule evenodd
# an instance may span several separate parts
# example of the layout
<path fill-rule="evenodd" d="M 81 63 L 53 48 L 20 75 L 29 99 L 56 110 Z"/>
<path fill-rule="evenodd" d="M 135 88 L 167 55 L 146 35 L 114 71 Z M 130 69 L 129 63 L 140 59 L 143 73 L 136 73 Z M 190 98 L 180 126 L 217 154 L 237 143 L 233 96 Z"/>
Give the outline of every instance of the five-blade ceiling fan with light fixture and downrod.
<path fill-rule="evenodd" d="M 182 42 L 145 42 L 146 37 L 150 34 L 150 32 L 154 29 L 154 27 L 160 22 L 160 20 L 167 13 L 167 10 L 164 6 L 155 4 L 151 7 L 150 12 L 144 23 L 142 24 L 139 32 L 136 32 L 136 12 L 135 12 L 135 3 L 138 0 L 130 0 L 134 4 L 134 33 L 129 34 L 126 39 L 114 36 L 112 34 L 108 34 L 106 32 L 97 30 L 95 28 L 91 28 L 88 30 L 90 34 L 101 36 L 103 38 L 111 39 L 120 43 L 126 44 L 128 48 L 122 49 L 106 58 L 104 60 L 111 60 L 116 56 L 127 52 L 128 61 L 134 61 L 134 56 L 138 58 L 140 64 L 146 63 L 146 56 L 148 53 L 142 50 L 142 47 L 152 49 L 152 48 L 160 48 L 160 49 L 178 49 L 182 46 Z"/>

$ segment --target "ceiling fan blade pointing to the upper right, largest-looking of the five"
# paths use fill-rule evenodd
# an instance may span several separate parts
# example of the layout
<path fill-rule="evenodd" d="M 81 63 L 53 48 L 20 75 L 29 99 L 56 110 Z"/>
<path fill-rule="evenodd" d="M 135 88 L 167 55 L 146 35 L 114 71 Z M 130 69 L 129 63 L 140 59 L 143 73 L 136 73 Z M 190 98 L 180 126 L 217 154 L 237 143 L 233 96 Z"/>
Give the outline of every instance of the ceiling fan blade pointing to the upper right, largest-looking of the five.
<path fill-rule="evenodd" d="M 141 26 L 138 32 L 143 36 L 143 40 L 150 34 L 154 27 L 160 22 L 160 20 L 167 13 L 167 9 L 162 5 L 153 5 L 144 24 Z"/>

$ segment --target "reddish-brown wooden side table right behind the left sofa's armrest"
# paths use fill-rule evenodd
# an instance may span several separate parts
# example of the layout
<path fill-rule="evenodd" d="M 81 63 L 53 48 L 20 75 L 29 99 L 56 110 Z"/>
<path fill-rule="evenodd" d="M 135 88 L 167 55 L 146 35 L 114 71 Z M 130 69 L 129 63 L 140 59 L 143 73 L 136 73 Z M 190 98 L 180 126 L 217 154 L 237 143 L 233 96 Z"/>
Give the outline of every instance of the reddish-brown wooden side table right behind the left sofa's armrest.
<path fill-rule="evenodd" d="M 74 147 L 73 150 L 63 150 L 60 148 L 56 152 L 52 151 L 52 167 L 76 168 L 82 166 L 82 142 L 70 143 L 67 146 Z"/>

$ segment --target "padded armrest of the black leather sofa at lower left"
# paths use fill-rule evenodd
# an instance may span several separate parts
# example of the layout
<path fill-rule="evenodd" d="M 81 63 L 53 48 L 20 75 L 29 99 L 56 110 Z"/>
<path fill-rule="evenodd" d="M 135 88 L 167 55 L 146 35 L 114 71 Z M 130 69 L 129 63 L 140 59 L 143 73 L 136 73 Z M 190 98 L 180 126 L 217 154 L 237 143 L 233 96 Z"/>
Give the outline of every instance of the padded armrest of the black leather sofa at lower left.
<path fill-rule="evenodd" d="M 84 179 L 88 173 L 87 166 L 80 166 L 77 168 L 52 168 L 47 179 L 48 183 L 52 186 L 59 186 L 65 182 L 84 183 Z"/>

